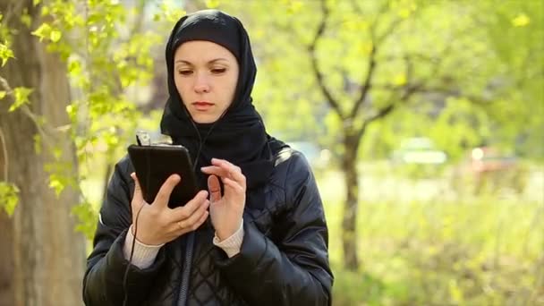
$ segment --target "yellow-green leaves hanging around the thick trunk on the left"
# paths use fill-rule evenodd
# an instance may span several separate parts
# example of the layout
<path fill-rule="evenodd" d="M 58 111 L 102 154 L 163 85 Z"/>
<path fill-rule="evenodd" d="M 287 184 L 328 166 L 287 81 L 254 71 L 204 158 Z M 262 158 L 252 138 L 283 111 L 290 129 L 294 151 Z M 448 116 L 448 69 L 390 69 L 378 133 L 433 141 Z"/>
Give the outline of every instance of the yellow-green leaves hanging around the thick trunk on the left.
<path fill-rule="evenodd" d="M 28 27 L 36 27 L 32 34 L 46 43 L 50 52 L 62 56 L 72 92 L 75 93 L 66 111 L 71 119 L 68 131 L 76 144 L 78 164 L 60 160 L 61 149 L 55 144 L 47 148 L 47 153 L 55 157 L 54 162 L 46 165 L 50 174 L 49 185 L 59 194 L 67 186 L 80 189 L 79 183 L 94 171 L 86 167 L 89 155 L 115 158 L 112 157 L 115 149 L 124 143 L 126 135 L 134 129 L 139 114 L 134 104 L 126 98 L 125 91 L 149 81 L 153 64 L 151 47 L 161 37 L 141 28 L 144 2 L 132 9 L 106 0 L 51 0 L 35 4 L 39 5 L 42 22 L 30 21 L 25 13 L 21 15 L 21 20 Z M 168 8 L 165 6 L 163 10 Z M 132 31 L 127 31 L 125 26 L 129 21 L 134 25 Z M 17 56 L 9 48 L 12 35 L 16 35 L 13 30 L 2 28 L 2 64 Z M 10 89 L 7 81 L 2 85 L 1 98 L 6 95 L 13 97 L 10 111 L 29 102 L 32 89 Z M 26 111 L 30 113 L 30 108 Z M 47 125 L 45 122 L 40 124 Z M 35 137 L 38 150 L 40 143 L 44 143 L 43 137 L 45 135 Z M 107 162 L 110 163 L 109 160 Z M 14 193 L 6 191 L 3 194 L 13 196 Z M 85 192 L 81 191 L 81 195 L 85 196 Z M 8 202 L 10 209 L 13 209 L 12 199 Z M 98 206 L 97 203 L 93 204 L 94 207 Z M 79 229 L 85 229 L 85 234 L 91 237 L 97 218 L 96 213 L 91 214 L 94 208 L 85 208 L 87 205 L 90 202 L 83 200 L 73 213 L 82 218 L 83 224 Z"/>

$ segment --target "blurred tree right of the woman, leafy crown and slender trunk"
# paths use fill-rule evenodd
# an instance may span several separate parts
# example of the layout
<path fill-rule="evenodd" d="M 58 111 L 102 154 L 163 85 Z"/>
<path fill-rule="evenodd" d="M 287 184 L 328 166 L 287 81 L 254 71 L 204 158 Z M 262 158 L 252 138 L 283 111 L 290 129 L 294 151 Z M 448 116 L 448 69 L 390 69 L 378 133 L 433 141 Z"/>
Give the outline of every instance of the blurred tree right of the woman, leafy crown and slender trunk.
<path fill-rule="evenodd" d="M 358 262 L 356 165 L 365 138 L 374 156 L 374 145 L 403 134 L 427 134 L 456 158 L 487 142 L 542 156 L 540 2 L 280 3 L 225 2 L 250 21 L 265 71 L 255 98 L 268 123 L 334 148 L 347 186 L 346 267 Z"/>

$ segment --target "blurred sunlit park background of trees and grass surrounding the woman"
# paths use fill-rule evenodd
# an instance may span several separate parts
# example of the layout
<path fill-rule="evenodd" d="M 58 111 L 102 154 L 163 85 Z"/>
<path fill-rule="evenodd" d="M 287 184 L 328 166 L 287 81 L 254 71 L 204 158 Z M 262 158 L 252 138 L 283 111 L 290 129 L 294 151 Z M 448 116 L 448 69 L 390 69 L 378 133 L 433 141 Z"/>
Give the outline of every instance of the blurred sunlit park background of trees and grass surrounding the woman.
<path fill-rule="evenodd" d="M 0 305 L 81 305 L 107 180 L 160 138 L 166 38 L 204 8 L 242 21 L 268 133 L 313 167 L 334 305 L 544 305 L 540 0 L 0 0 Z"/>

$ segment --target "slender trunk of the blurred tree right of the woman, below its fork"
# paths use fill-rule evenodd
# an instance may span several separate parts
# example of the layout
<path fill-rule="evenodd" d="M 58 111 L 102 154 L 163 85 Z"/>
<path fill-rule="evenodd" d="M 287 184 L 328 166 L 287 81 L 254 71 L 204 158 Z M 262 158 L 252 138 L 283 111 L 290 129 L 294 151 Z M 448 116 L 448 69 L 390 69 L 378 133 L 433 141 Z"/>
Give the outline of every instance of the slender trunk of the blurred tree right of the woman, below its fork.
<path fill-rule="evenodd" d="M 342 243 L 344 249 L 345 268 L 356 270 L 359 267 L 357 257 L 357 207 L 359 195 L 359 181 L 357 178 L 357 149 L 359 148 L 358 137 L 355 133 L 344 132 L 345 154 L 342 160 L 342 171 L 345 179 L 345 204 L 344 219 L 342 222 Z"/>

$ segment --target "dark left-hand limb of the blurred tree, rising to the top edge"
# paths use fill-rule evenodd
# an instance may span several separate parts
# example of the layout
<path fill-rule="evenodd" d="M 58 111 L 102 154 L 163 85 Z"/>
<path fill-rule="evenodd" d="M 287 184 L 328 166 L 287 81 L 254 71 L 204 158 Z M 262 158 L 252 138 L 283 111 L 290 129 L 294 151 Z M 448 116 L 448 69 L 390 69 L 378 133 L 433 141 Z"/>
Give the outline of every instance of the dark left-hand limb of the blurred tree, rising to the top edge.
<path fill-rule="evenodd" d="M 310 52 L 311 67 L 313 69 L 313 72 L 316 75 L 316 79 L 319 84 L 319 89 L 321 89 L 321 92 L 323 93 L 325 98 L 327 98 L 328 104 L 336 111 L 336 114 L 339 115 L 342 120 L 344 120 L 345 118 L 344 112 L 342 112 L 342 109 L 340 108 L 338 101 L 336 101 L 336 99 L 333 98 L 331 92 L 327 88 L 327 85 L 325 84 L 325 81 L 323 80 L 323 74 L 319 71 L 318 59 L 316 57 L 316 46 L 318 44 L 319 38 L 322 38 L 325 33 L 325 28 L 327 26 L 327 19 L 329 15 L 327 4 L 325 2 L 326 2 L 325 0 L 321 0 L 321 12 L 323 13 L 322 19 L 319 22 L 319 28 L 316 31 L 316 34 L 313 40 L 311 41 L 310 46 L 308 47 L 308 51 Z"/>

